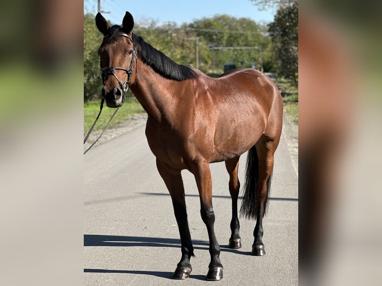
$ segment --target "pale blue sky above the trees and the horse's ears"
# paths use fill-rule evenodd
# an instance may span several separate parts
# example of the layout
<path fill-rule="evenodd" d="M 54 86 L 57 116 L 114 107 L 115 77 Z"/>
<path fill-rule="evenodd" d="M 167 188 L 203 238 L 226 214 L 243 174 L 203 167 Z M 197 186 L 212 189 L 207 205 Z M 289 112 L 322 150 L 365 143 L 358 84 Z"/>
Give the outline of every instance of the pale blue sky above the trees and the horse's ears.
<path fill-rule="evenodd" d="M 250 0 L 101 0 L 101 9 L 112 24 L 121 24 L 126 10 L 136 22 L 154 19 L 158 24 L 168 21 L 182 24 L 194 19 L 228 14 L 233 17 L 250 18 L 257 23 L 273 21 L 275 8 L 259 11 Z M 97 0 L 84 0 L 84 13 L 97 12 Z"/>

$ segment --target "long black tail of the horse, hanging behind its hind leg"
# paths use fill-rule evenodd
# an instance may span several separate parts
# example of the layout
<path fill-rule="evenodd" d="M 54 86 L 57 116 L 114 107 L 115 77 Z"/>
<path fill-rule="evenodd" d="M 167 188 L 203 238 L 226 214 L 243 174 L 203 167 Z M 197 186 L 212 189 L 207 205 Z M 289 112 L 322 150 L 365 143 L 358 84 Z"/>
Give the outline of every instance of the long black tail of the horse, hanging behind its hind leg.
<path fill-rule="evenodd" d="M 267 180 L 267 197 L 264 202 L 264 212 L 267 209 L 267 201 L 270 192 L 272 173 Z M 240 214 L 245 218 L 256 219 L 260 198 L 256 196 L 256 186 L 259 182 L 259 158 L 257 156 L 256 147 L 253 146 L 248 150 L 247 166 L 245 169 L 244 197 L 241 202 Z"/>

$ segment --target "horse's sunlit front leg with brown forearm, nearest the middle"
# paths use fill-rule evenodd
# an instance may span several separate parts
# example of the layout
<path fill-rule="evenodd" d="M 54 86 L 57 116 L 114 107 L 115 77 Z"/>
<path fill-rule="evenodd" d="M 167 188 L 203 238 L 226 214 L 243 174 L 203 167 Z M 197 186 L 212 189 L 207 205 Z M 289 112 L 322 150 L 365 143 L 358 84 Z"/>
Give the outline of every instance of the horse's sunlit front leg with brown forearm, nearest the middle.
<path fill-rule="evenodd" d="M 223 278 L 223 266 L 220 262 L 220 246 L 217 243 L 213 226 L 215 222 L 215 214 L 212 208 L 212 180 L 208 162 L 205 160 L 198 161 L 191 172 L 195 176 L 200 197 L 200 215 L 207 227 L 209 239 L 211 262 L 208 266 L 206 279 L 217 281 Z"/>

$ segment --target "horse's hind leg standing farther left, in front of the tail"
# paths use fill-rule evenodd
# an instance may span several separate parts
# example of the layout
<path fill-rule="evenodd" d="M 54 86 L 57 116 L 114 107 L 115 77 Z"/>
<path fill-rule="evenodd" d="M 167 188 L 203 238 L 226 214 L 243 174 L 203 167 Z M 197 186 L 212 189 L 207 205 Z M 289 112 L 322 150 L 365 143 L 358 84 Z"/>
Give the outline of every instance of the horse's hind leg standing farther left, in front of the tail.
<path fill-rule="evenodd" d="M 237 175 L 239 167 L 239 158 L 229 159 L 225 161 L 225 168 L 229 174 L 229 193 L 232 199 L 232 219 L 230 223 L 231 228 L 231 237 L 229 238 L 228 248 L 239 249 L 241 248 L 241 238 L 239 234 L 240 223 L 239 218 L 237 217 L 237 198 L 239 196 L 240 182 Z"/>

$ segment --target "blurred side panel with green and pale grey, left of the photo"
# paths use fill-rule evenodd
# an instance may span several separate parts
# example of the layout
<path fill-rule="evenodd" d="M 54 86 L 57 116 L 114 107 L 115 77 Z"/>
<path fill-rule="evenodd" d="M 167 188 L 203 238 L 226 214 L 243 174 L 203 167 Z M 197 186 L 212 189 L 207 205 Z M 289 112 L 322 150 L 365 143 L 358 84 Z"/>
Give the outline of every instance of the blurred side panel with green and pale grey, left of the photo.
<path fill-rule="evenodd" d="M 2 1 L 0 277 L 82 283 L 83 5 Z"/>

